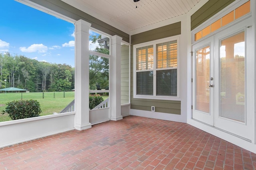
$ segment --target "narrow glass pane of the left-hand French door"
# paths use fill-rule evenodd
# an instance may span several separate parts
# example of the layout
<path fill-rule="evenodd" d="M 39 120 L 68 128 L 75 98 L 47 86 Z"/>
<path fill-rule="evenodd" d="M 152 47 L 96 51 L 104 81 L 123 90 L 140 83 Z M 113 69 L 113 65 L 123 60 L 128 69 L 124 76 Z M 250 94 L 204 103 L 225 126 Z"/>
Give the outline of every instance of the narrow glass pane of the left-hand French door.
<path fill-rule="evenodd" d="M 210 111 L 210 46 L 196 51 L 196 110 Z"/>

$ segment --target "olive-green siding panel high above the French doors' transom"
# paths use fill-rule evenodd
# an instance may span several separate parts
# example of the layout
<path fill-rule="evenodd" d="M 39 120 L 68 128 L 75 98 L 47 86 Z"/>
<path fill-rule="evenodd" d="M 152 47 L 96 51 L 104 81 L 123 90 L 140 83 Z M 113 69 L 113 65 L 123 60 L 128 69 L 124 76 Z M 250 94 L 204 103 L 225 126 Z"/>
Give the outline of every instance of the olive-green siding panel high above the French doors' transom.
<path fill-rule="evenodd" d="M 209 0 L 191 16 L 191 30 L 198 27 L 235 0 Z"/>

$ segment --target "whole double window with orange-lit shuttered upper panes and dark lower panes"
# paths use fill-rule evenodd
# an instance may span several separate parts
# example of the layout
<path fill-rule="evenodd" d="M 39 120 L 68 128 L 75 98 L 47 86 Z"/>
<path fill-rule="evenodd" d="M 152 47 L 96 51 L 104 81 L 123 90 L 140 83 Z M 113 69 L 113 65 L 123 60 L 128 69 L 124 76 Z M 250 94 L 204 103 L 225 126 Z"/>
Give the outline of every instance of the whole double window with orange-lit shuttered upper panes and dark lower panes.
<path fill-rule="evenodd" d="M 134 45 L 134 54 L 134 98 L 178 97 L 178 38 Z"/>

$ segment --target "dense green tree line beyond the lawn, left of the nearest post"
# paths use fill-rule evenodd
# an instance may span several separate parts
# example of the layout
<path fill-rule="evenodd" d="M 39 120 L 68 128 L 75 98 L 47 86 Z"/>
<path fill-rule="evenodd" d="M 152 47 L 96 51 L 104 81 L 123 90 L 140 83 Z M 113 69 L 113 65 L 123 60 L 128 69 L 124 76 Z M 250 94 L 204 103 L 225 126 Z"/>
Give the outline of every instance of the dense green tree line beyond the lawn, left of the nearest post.
<path fill-rule="evenodd" d="M 0 88 L 16 87 L 30 92 L 71 91 L 75 70 L 68 64 L 52 64 L 0 54 Z M 6 81 L 4 81 L 6 80 Z"/>

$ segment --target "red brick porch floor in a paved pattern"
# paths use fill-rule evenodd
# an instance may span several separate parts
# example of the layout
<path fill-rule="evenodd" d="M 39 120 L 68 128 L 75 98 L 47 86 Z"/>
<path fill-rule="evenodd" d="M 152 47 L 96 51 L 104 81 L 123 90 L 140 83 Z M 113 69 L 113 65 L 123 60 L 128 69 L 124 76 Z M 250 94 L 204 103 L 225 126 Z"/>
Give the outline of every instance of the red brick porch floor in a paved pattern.
<path fill-rule="evenodd" d="M 186 123 L 127 116 L 0 148 L 0 170 L 256 169 L 256 154 Z"/>

